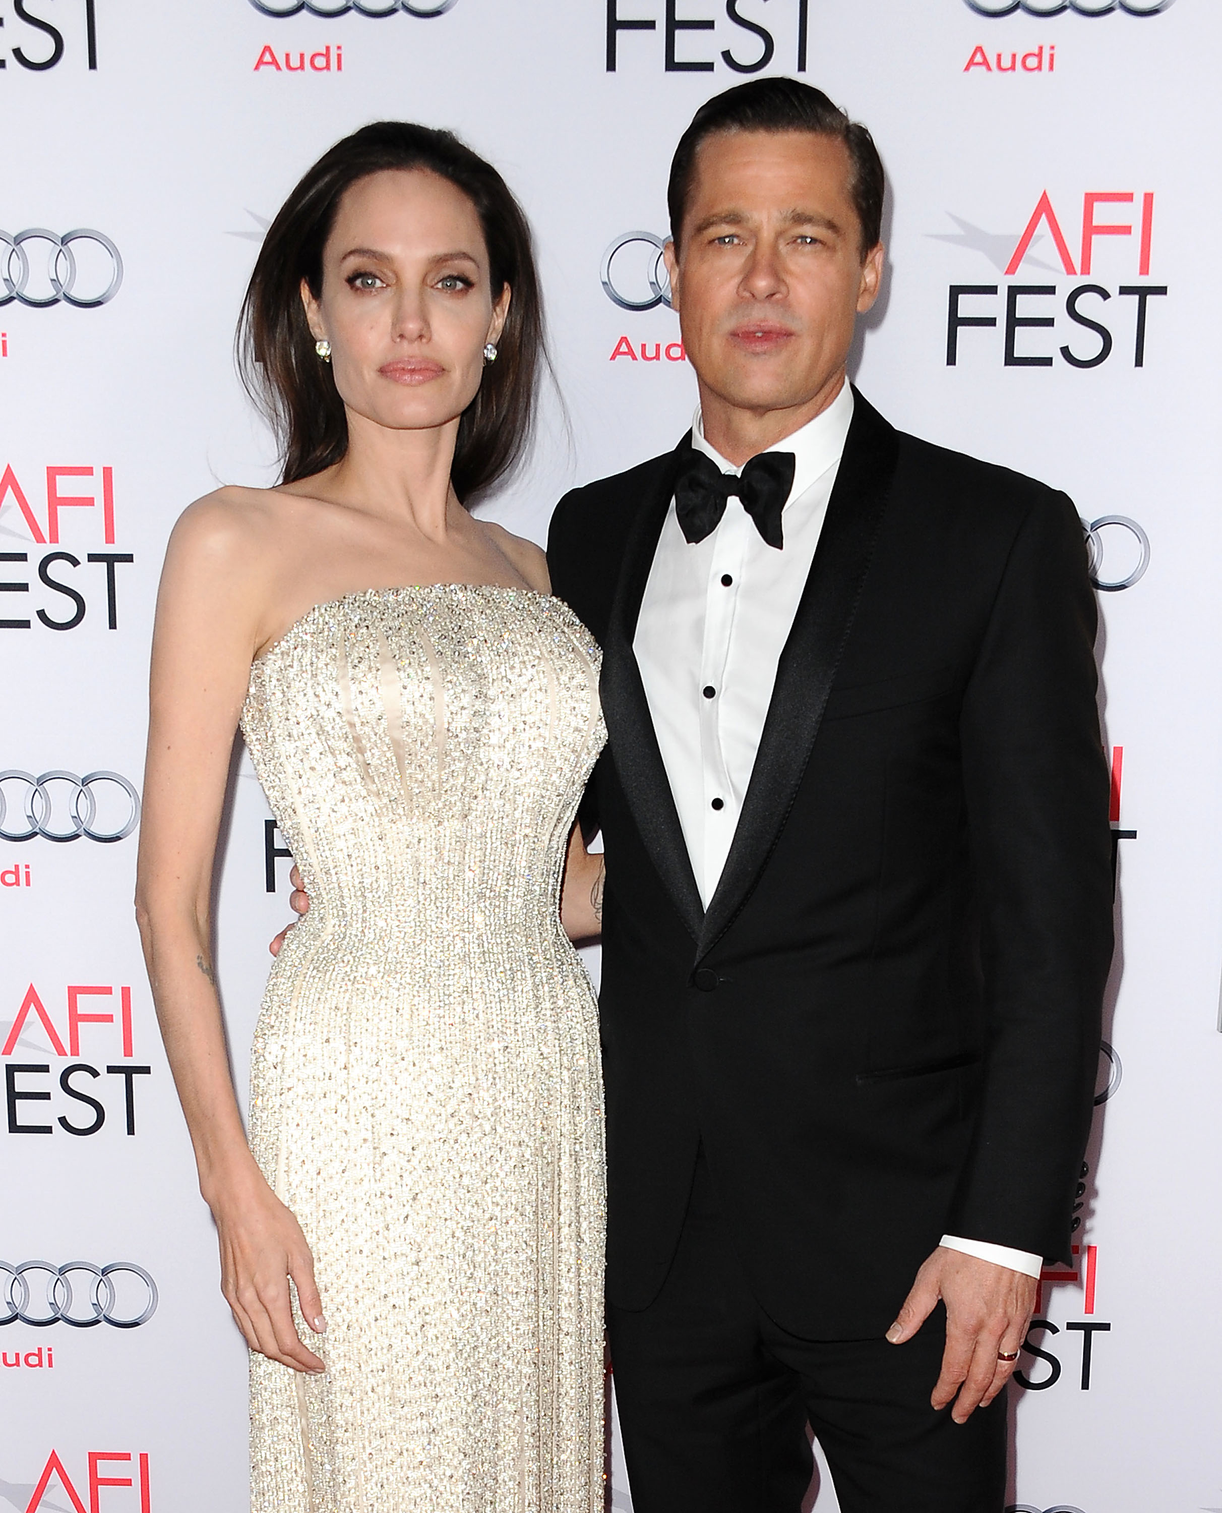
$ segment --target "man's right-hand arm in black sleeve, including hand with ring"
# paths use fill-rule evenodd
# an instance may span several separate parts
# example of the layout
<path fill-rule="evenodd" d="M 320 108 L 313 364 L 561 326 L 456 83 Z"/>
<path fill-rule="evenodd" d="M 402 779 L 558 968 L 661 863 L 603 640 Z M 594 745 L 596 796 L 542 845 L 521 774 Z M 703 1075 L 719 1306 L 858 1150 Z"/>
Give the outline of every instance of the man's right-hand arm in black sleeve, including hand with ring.
<path fill-rule="evenodd" d="M 1096 608 L 1072 504 L 1036 499 L 994 601 L 960 725 L 982 914 L 985 1085 L 944 1244 L 888 1331 L 910 1339 L 941 1298 L 933 1406 L 963 1422 L 1013 1371 L 1037 1256 L 1062 1256 L 1090 1127 L 1112 959 L 1107 769 L 1095 708 Z M 974 1254 L 951 1248 L 966 1238 Z M 1028 1265 L 997 1265 L 995 1247 Z M 1066 1254 L 1068 1259 L 1068 1254 Z M 956 1396 L 957 1395 L 957 1396 Z"/>

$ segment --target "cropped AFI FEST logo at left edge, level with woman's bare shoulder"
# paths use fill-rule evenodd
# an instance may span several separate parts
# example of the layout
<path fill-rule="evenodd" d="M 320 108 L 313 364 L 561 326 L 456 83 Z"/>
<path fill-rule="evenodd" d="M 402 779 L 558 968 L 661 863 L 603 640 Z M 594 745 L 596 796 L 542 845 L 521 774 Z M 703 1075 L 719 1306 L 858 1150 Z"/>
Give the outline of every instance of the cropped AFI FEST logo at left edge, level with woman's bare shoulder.
<path fill-rule="evenodd" d="M 23 468 L 21 472 L 24 483 L 12 463 L 6 463 L 0 472 L 0 539 L 59 546 L 62 525 L 71 522 L 71 527 L 77 527 L 88 519 L 92 522 L 94 542 L 100 534 L 103 546 L 115 545 L 113 468 L 38 469 L 42 474 L 39 490 L 32 484 L 30 469 Z M 92 492 L 68 492 L 82 487 Z M 44 493 L 45 504 L 38 501 L 38 493 Z M 67 517 L 62 516 L 64 510 L 70 511 Z M 77 513 L 80 510 L 97 513 L 83 517 Z M 85 622 L 89 604 L 100 598 L 106 602 L 107 629 L 118 629 L 118 569 L 135 560 L 132 552 L 86 551 L 85 570 L 80 570 L 82 557 L 65 549 L 35 554 L 33 560 L 29 551 L 0 551 L 0 631 L 29 631 L 35 625 L 48 631 L 74 631 Z M 35 596 L 33 602 L 18 598 L 27 595 Z"/>

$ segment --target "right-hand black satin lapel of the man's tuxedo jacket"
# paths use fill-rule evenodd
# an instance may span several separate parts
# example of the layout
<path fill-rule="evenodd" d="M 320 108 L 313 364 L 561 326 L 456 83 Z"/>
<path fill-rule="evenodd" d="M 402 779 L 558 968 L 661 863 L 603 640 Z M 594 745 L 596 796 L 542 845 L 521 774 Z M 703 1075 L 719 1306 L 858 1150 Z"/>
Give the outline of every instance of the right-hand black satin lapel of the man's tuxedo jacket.
<path fill-rule="evenodd" d="M 854 390 L 811 575 L 780 654 L 743 814 L 699 938 L 703 956 L 750 897 L 792 808 L 836 676 L 895 471 L 895 431 Z"/>

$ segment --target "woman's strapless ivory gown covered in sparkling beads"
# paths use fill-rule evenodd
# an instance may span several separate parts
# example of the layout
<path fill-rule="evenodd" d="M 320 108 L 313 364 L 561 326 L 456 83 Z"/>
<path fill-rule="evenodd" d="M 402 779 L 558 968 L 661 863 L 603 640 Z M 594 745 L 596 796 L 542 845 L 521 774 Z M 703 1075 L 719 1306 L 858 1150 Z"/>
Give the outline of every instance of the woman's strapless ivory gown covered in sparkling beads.
<path fill-rule="evenodd" d="M 321 604 L 242 731 L 306 878 L 254 1039 L 251 1147 L 301 1223 L 327 1374 L 251 1357 L 254 1513 L 603 1507 L 596 1005 L 558 918 L 605 740 L 558 599 Z"/>

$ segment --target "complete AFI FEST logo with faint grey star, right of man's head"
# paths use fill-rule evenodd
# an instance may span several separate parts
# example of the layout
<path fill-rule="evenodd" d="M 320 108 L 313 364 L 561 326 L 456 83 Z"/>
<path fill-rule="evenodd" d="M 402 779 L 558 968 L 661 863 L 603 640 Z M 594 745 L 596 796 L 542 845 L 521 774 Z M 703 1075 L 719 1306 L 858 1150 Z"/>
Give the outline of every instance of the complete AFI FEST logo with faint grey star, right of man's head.
<path fill-rule="evenodd" d="M 1119 219 L 1109 219 L 1119 216 Z M 1060 210 L 1045 189 L 1021 233 L 995 235 L 957 215 L 957 231 L 942 231 L 933 241 L 948 242 L 986 257 L 1006 278 L 1004 295 L 997 283 L 953 283 L 947 301 L 947 366 L 1053 368 L 1065 363 L 1087 371 L 1110 357 L 1143 368 L 1148 351 L 1157 354 L 1151 336 L 1158 301 L 1168 286 L 1099 283 L 1095 263 L 1115 268 L 1128 263 L 1130 277 L 1149 280 L 1154 256 L 1155 197 L 1152 191 L 1089 189 L 1077 203 Z M 1080 235 L 1078 235 L 1080 231 Z M 1121 256 L 1110 251 L 1113 239 L 1125 239 Z M 1050 247 L 1051 244 L 1051 247 Z M 1103 247 L 1099 245 L 1103 244 Z M 1028 281 L 1033 274 L 1062 275 L 1060 283 Z M 1024 277 L 1025 275 L 1025 277 Z M 1018 281 L 1021 280 L 1021 281 Z M 991 337 L 966 333 L 992 331 Z M 1053 331 L 1036 337 L 1034 331 Z M 1057 337 L 1063 337 L 1059 343 Z"/>

